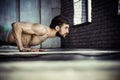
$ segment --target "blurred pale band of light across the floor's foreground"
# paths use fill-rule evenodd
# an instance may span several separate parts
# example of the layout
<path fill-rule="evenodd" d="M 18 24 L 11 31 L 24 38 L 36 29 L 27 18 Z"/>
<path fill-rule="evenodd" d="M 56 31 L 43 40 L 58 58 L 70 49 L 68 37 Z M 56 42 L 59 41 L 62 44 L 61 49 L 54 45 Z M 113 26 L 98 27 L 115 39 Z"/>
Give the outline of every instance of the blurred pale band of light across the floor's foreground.
<path fill-rule="evenodd" d="M 0 80 L 120 80 L 119 61 L 27 61 L 0 65 Z"/>

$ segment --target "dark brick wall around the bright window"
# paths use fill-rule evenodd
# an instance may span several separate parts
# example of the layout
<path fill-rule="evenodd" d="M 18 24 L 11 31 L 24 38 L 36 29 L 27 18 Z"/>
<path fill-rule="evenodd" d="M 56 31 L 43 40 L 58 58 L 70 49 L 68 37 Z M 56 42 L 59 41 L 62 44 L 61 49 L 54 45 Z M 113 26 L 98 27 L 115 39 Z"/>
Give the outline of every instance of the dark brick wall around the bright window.
<path fill-rule="evenodd" d="M 61 0 L 61 14 L 70 19 L 70 34 L 63 48 L 120 49 L 118 0 L 92 0 L 92 22 L 73 26 L 73 1 Z"/>

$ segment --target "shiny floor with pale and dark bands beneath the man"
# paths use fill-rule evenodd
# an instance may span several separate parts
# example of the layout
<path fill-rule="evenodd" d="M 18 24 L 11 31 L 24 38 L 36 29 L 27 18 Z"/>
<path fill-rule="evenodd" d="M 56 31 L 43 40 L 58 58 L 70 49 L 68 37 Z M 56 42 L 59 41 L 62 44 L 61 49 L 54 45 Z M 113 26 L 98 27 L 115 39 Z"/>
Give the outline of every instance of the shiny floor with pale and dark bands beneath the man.
<path fill-rule="evenodd" d="M 0 80 L 120 80 L 119 51 L 0 50 Z"/>

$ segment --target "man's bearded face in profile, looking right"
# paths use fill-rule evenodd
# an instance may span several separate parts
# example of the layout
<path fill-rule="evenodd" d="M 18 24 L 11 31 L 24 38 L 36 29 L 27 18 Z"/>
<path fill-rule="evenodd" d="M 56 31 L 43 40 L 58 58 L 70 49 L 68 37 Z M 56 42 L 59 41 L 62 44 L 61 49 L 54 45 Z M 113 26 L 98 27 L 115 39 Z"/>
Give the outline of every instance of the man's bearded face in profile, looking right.
<path fill-rule="evenodd" d="M 63 24 L 56 35 L 61 38 L 65 38 L 68 35 L 68 33 L 69 33 L 69 24 Z"/>

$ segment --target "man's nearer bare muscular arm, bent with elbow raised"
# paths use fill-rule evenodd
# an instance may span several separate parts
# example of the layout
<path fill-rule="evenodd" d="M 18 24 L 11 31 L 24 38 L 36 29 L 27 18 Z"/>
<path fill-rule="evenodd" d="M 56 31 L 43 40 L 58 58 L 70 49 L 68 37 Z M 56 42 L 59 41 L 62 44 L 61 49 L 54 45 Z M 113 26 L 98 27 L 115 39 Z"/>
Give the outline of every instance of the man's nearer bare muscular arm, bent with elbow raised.
<path fill-rule="evenodd" d="M 16 44 L 20 51 L 31 51 L 30 48 L 24 48 L 21 41 L 22 33 L 27 33 L 29 35 L 42 35 L 42 32 L 39 32 L 40 28 L 38 26 L 34 26 L 32 23 L 13 23 L 12 29 Z"/>

